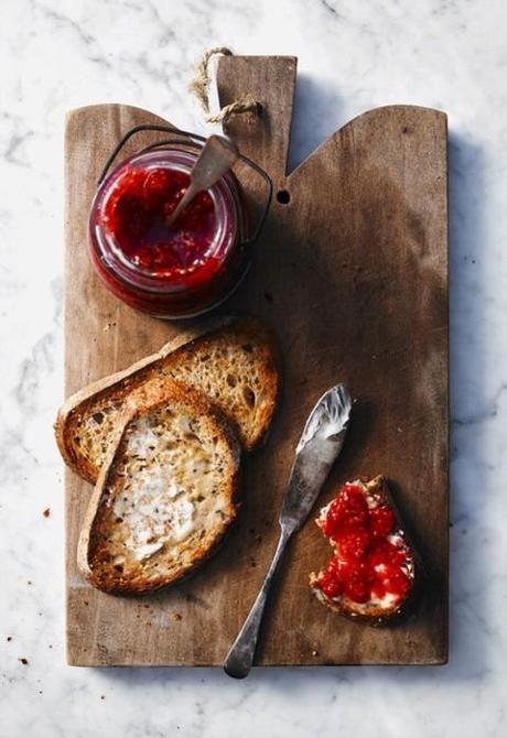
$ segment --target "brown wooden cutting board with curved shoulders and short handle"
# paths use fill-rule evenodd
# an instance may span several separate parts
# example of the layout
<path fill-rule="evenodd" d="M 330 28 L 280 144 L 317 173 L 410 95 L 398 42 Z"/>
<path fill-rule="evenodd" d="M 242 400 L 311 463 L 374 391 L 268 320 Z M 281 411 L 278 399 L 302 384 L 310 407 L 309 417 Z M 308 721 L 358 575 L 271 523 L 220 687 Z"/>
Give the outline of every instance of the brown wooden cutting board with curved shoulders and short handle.
<path fill-rule="evenodd" d="M 222 308 L 266 321 L 284 359 L 283 398 L 269 442 L 245 462 L 239 524 L 185 584 L 142 599 L 105 595 L 76 569 L 76 542 L 91 488 L 67 471 L 71 664 L 222 664 L 276 546 L 280 501 L 304 420 L 337 381 L 345 381 L 358 402 L 320 503 L 346 479 L 387 475 L 428 567 L 425 594 L 412 617 L 384 629 L 327 611 L 306 586 L 309 573 L 330 555 L 309 520 L 289 547 L 256 662 L 446 660 L 446 117 L 412 106 L 371 110 L 287 175 L 295 67 L 292 57 L 227 57 L 218 69 L 223 104 L 246 93 L 262 102 L 261 118 L 238 117 L 228 132 L 269 171 L 278 193 L 254 265 Z M 111 296 L 86 253 L 87 215 L 99 172 L 121 134 L 147 122 L 161 119 L 121 105 L 68 116 L 67 394 L 153 352 L 179 330 Z M 172 122 L 177 123 L 177 110 Z M 244 185 L 258 200 L 254 181 Z"/>

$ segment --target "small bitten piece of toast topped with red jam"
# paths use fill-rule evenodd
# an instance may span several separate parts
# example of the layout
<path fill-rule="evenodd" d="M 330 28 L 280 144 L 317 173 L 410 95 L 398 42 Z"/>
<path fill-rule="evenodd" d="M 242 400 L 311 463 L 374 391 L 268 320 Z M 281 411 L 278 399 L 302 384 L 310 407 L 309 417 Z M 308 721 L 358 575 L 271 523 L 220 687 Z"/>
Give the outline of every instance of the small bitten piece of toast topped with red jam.
<path fill-rule="evenodd" d="M 347 493 L 346 490 L 349 488 L 360 490 L 364 496 L 367 508 L 366 518 L 362 518 L 364 510 L 360 509 L 360 506 L 358 510 L 345 514 L 339 512 L 339 508 L 336 507 L 344 499 L 343 496 Z M 336 510 L 335 522 L 326 524 L 332 506 L 335 506 L 334 510 Z M 377 515 L 377 521 L 380 515 L 384 517 L 384 523 L 380 520 L 375 535 L 371 533 L 375 525 L 371 522 L 373 511 L 375 511 L 374 517 Z M 386 511 L 390 511 L 390 513 Z M 343 515 L 342 520 L 339 514 Z M 386 515 L 387 525 L 385 523 Z M 389 521 L 391 521 L 390 529 Z M 382 625 L 407 609 L 407 605 L 413 599 L 417 586 L 420 583 L 421 565 L 413 545 L 403 530 L 401 519 L 384 477 L 378 476 L 370 480 L 358 479 L 344 485 L 335 500 L 322 508 L 315 522 L 323 534 L 328 538 L 334 553 L 326 569 L 310 575 L 310 587 L 323 605 L 338 615 L 366 621 L 370 625 Z M 327 529 L 327 525 L 330 528 L 332 525 L 336 527 L 335 538 L 333 538 L 333 532 Z M 369 532 L 363 534 L 362 531 L 367 529 Z M 348 550 L 345 550 L 347 544 Z M 384 546 L 384 550 L 381 546 Z M 368 599 L 365 601 L 356 601 L 352 598 L 347 585 L 344 586 L 343 584 L 344 579 L 342 578 L 341 582 L 341 577 L 346 576 L 343 572 L 347 572 L 347 567 L 349 567 L 348 572 L 353 572 L 353 576 L 359 577 L 359 590 L 363 586 L 367 587 Z M 326 579 L 327 573 L 330 573 L 331 580 Z M 352 582 L 352 585 L 348 586 L 354 587 L 355 583 L 350 575 L 348 575 L 347 580 L 348 583 Z M 368 584 L 364 585 L 364 582 L 368 582 Z M 333 593 L 333 588 L 336 588 L 337 592 Z"/>

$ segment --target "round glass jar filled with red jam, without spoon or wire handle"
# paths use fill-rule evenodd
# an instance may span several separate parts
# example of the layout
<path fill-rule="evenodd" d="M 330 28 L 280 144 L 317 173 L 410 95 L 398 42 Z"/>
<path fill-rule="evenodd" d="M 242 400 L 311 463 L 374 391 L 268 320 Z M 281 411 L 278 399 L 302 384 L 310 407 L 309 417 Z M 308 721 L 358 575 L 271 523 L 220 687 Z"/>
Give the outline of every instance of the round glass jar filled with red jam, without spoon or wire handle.
<path fill-rule="evenodd" d="M 212 310 L 249 264 L 240 187 L 230 172 L 168 225 L 198 153 L 141 151 L 101 181 L 91 205 L 88 245 L 99 276 L 128 305 L 157 317 Z"/>

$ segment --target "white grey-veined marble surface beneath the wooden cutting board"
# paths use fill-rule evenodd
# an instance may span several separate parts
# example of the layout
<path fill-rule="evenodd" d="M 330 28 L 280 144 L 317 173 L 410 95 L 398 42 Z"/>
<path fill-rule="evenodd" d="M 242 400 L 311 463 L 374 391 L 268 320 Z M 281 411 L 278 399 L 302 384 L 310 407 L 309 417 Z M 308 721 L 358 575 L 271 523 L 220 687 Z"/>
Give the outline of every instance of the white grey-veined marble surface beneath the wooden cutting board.
<path fill-rule="evenodd" d="M 504 0 L 1 0 L 0 736 L 507 735 L 506 25 Z M 446 668 L 258 670 L 237 683 L 218 670 L 65 665 L 51 433 L 63 381 L 64 113 L 115 100 L 196 126 L 190 68 L 217 43 L 299 56 L 293 163 L 367 108 L 449 112 Z"/>

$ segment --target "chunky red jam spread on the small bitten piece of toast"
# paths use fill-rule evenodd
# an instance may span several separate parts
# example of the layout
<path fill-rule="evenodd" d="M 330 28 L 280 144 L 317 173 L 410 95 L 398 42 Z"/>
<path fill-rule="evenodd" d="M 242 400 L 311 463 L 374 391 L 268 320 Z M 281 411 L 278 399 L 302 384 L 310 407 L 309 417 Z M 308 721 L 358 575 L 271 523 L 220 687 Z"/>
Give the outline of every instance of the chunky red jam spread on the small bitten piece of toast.
<path fill-rule="evenodd" d="M 409 549 L 401 536 L 389 540 L 396 520 L 386 504 L 368 507 L 359 485 L 344 485 L 320 523 L 335 555 L 319 577 L 327 597 L 368 603 L 390 596 L 401 603 L 410 589 Z"/>

